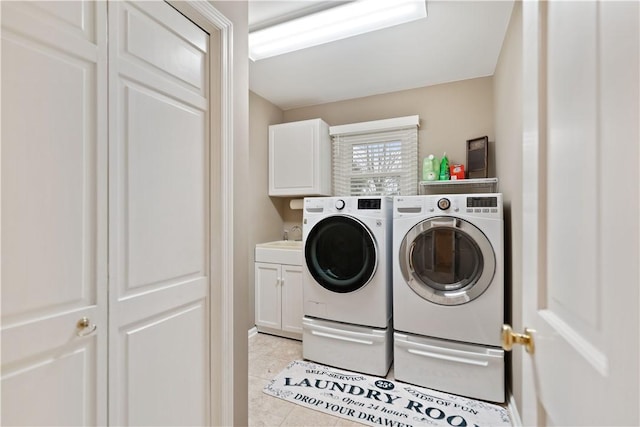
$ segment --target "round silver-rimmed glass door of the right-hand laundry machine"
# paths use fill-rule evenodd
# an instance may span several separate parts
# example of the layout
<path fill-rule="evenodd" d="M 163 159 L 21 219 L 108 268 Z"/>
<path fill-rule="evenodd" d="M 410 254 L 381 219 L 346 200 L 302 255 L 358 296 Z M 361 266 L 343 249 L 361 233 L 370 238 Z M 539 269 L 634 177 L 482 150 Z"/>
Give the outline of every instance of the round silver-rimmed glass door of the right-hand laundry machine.
<path fill-rule="evenodd" d="M 415 225 L 402 240 L 398 256 L 411 289 L 441 305 L 478 298 L 496 271 L 493 247 L 484 233 L 455 217 L 434 217 Z"/>

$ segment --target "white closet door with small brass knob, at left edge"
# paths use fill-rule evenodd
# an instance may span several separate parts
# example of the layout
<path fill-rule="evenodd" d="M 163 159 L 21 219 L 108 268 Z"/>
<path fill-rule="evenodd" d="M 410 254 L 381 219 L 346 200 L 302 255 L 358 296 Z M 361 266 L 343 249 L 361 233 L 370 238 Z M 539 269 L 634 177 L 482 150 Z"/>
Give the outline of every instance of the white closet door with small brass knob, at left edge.
<path fill-rule="evenodd" d="M 1 8 L 0 424 L 104 425 L 106 5 Z"/>

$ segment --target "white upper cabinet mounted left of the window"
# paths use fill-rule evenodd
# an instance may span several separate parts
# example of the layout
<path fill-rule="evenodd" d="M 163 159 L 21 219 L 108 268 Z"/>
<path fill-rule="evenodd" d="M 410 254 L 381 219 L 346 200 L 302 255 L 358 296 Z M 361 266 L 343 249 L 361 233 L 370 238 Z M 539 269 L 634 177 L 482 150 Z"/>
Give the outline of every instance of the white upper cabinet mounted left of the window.
<path fill-rule="evenodd" d="M 269 195 L 331 195 L 327 123 L 312 119 L 269 126 Z"/>

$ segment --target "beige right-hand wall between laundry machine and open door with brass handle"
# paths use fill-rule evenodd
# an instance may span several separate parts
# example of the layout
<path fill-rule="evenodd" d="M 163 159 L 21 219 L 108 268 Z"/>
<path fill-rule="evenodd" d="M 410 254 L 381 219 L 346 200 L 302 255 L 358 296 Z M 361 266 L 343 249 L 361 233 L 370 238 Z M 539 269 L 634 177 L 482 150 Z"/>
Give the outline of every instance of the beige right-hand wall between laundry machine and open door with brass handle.
<path fill-rule="evenodd" d="M 516 2 L 494 78 L 496 171 L 505 204 L 505 286 L 508 320 L 522 326 L 522 4 Z M 522 407 L 522 348 L 511 358 L 511 389 Z"/>

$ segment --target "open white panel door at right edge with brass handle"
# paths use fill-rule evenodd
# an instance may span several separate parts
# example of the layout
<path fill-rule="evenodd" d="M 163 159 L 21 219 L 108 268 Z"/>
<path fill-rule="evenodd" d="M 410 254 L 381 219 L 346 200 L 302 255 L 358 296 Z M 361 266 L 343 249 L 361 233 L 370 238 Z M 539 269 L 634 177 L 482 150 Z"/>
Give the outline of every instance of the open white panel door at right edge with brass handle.
<path fill-rule="evenodd" d="M 525 425 L 638 425 L 640 5 L 524 2 Z"/>

